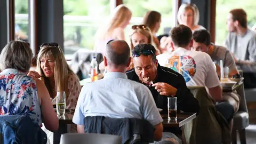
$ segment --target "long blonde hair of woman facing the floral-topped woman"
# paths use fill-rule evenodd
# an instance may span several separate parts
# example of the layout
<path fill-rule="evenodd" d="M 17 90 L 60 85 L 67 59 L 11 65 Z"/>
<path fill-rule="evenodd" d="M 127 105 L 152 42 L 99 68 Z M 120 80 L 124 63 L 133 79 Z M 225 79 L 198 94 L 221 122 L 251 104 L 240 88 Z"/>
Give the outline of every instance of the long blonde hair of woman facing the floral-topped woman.
<path fill-rule="evenodd" d="M 54 81 L 55 87 L 57 91 L 65 91 L 66 99 L 68 98 L 69 91 L 68 91 L 68 78 L 70 75 L 75 75 L 74 72 L 68 66 L 68 63 L 65 59 L 64 53 L 61 48 L 58 47 L 49 47 L 43 46 L 41 47 L 38 56 L 37 56 L 37 71 L 39 75 L 43 75 L 43 70 L 41 68 L 41 58 L 52 58 L 54 60 Z M 50 85 L 50 80 L 47 77 L 41 78 L 44 82 L 47 90 L 49 91 L 50 95 L 52 92 L 52 88 Z"/>

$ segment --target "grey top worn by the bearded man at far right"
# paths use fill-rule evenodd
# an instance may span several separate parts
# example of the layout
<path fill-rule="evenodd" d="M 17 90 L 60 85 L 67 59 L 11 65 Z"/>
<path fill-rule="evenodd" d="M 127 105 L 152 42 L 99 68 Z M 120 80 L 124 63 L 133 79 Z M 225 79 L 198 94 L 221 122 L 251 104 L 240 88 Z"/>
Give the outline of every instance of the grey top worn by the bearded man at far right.
<path fill-rule="evenodd" d="M 227 48 L 238 60 L 256 61 L 256 33 L 247 29 L 244 36 L 229 33 L 226 39 Z"/>

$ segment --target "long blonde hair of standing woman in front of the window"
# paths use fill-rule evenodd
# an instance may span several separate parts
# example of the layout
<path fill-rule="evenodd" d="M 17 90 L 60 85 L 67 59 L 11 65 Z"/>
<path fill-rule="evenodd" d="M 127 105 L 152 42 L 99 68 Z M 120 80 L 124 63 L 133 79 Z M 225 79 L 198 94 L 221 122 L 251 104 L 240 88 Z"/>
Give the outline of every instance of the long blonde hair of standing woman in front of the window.
<path fill-rule="evenodd" d="M 129 20 L 131 15 L 132 12 L 128 7 L 123 4 L 118 5 L 115 8 L 114 13 L 110 15 L 110 20 L 107 23 L 107 26 L 105 25 L 100 28 L 95 36 L 103 40 L 109 38 L 116 28 L 120 27 L 124 22 Z"/>

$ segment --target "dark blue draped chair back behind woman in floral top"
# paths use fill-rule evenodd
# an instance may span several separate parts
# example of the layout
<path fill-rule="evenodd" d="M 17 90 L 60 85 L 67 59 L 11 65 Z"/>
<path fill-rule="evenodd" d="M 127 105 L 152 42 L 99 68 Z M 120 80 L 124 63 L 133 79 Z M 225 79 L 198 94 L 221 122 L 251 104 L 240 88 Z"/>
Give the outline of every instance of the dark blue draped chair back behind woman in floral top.
<path fill-rule="evenodd" d="M 3 143 L 47 142 L 46 133 L 25 115 L 0 116 L 0 135 Z"/>

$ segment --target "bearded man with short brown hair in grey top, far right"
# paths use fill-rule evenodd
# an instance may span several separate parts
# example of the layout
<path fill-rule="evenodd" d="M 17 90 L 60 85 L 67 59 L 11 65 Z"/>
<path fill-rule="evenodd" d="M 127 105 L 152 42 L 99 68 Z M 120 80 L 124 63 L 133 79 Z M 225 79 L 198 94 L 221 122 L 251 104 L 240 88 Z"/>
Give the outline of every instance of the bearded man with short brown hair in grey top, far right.
<path fill-rule="evenodd" d="M 227 48 L 237 61 L 256 61 L 256 33 L 247 27 L 247 14 L 243 9 L 231 10 L 228 14 Z"/>

